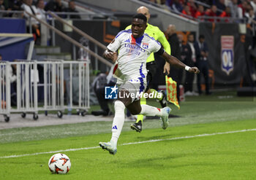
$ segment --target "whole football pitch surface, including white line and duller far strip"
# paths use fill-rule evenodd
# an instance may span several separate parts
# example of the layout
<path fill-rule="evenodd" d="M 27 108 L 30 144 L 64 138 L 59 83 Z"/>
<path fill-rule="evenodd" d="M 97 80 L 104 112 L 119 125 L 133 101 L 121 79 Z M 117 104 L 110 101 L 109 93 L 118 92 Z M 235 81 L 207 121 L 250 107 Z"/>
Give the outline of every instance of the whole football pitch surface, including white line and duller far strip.
<path fill-rule="evenodd" d="M 98 146 L 112 122 L 0 130 L 0 179 L 256 179 L 255 99 L 226 98 L 170 106 L 180 117 L 167 130 L 125 122 L 114 156 Z M 57 152 L 71 160 L 66 175 L 48 170 Z"/>

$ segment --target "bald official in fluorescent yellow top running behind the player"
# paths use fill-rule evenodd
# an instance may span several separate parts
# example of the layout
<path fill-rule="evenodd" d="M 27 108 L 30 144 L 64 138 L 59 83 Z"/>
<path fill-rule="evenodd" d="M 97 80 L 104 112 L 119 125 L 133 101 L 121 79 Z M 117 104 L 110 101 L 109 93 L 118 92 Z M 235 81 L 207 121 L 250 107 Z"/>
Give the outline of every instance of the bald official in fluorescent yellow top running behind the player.
<path fill-rule="evenodd" d="M 164 47 L 165 51 L 167 52 L 167 54 L 170 55 L 170 44 L 167 41 L 167 39 L 165 38 L 165 34 L 157 26 L 152 26 L 151 24 L 148 23 L 148 20 L 150 18 L 150 13 L 149 13 L 148 8 L 147 7 L 139 7 L 137 9 L 137 13 L 141 13 L 147 17 L 147 27 L 146 27 L 145 33 L 148 34 L 148 36 L 151 36 L 155 40 L 160 42 L 162 44 L 162 46 Z M 130 29 L 130 28 L 132 28 L 131 25 L 127 26 L 126 30 Z M 145 90 L 145 93 L 157 94 L 157 97 L 161 97 L 158 99 L 161 106 L 162 107 L 167 106 L 165 92 L 163 90 L 160 92 L 157 92 L 157 90 L 154 90 L 153 88 L 151 88 L 151 87 L 153 87 L 152 79 L 157 72 L 157 65 L 155 63 L 154 53 L 151 53 L 151 55 L 148 56 L 148 58 L 146 60 L 146 69 L 148 70 L 148 75 L 147 75 L 148 85 Z M 164 74 L 170 73 L 170 64 L 167 62 L 165 62 L 163 73 Z M 140 103 L 146 104 L 146 99 L 141 98 Z M 140 132 L 142 130 L 142 123 L 143 123 L 143 115 L 138 115 L 136 122 L 131 125 L 131 128 L 133 130 L 136 130 L 137 132 Z"/>

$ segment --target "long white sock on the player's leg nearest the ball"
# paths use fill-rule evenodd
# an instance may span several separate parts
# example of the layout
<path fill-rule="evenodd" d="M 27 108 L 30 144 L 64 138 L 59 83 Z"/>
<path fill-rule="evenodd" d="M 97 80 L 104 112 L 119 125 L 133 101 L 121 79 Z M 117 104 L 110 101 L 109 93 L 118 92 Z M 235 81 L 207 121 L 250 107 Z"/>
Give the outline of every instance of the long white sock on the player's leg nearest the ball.
<path fill-rule="evenodd" d="M 118 138 L 121 134 L 121 129 L 123 128 L 124 125 L 124 103 L 121 101 L 117 100 L 115 102 L 115 117 L 113 119 L 113 125 L 112 125 L 112 138 L 111 141 L 116 145 Z"/>

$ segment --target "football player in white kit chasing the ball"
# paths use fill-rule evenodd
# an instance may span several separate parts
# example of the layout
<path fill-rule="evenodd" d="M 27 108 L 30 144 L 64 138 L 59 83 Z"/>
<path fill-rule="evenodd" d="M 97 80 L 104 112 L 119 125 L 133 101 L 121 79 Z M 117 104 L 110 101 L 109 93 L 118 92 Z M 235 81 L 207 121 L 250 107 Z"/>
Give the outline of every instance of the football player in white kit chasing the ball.
<path fill-rule="evenodd" d="M 112 138 L 109 142 L 99 142 L 102 149 L 107 149 L 110 154 L 116 154 L 117 141 L 124 125 L 125 108 L 129 109 L 131 114 L 143 114 L 146 116 L 159 116 L 162 119 L 162 128 L 168 126 L 168 116 L 171 111 L 169 107 L 163 109 L 146 104 L 140 105 L 138 94 L 146 90 L 146 59 L 151 52 L 157 52 L 168 63 L 177 68 L 185 69 L 191 73 L 199 73 L 197 67 L 189 67 L 181 63 L 177 58 L 168 55 L 161 44 L 154 38 L 144 34 L 147 18 L 143 14 L 137 14 L 132 18 L 132 29 L 124 30 L 116 35 L 116 38 L 108 45 L 103 56 L 108 60 L 116 60 L 116 71 L 119 71 L 118 98 L 115 101 L 115 117 L 112 125 Z"/>

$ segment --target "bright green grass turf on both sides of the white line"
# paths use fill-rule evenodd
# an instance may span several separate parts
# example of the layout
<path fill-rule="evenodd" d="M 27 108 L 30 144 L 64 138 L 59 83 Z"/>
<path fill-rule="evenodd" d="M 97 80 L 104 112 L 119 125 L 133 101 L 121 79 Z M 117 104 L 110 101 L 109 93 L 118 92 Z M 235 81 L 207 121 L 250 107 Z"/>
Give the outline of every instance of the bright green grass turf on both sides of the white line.
<path fill-rule="evenodd" d="M 143 133 L 124 132 L 119 144 L 256 128 L 255 120 L 184 125 Z M 1 156 L 97 146 L 110 134 L 1 144 Z M 255 179 L 256 131 L 65 152 L 67 175 L 48 170 L 51 154 L 0 159 L 2 179 Z"/>

